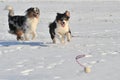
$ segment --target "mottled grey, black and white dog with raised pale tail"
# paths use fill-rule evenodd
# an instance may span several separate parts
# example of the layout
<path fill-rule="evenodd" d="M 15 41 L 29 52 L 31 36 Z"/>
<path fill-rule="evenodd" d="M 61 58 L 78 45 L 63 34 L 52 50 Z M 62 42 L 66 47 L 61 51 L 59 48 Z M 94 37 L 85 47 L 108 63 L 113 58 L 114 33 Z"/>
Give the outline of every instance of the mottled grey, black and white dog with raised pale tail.
<path fill-rule="evenodd" d="M 17 40 L 29 40 L 32 34 L 32 40 L 36 37 L 36 28 L 39 22 L 40 10 L 37 7 L 27 9 L 23 16 L 14 15 L 12 6 L 6 6 L 8 13 L 9 33 L 17 36 Z"/>

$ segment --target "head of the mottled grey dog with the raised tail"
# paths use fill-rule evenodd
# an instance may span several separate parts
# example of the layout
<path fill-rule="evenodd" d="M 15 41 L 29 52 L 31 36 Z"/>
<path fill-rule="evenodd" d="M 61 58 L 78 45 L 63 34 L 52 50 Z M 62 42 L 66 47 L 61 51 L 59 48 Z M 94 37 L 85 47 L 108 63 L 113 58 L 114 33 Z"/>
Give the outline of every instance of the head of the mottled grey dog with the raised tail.
<path fill-rule="evenodd" d="M 31 7 L 26 10 L 26 16 L 29 18 L 39 18 L 40 10 L 37 7 Z"/>

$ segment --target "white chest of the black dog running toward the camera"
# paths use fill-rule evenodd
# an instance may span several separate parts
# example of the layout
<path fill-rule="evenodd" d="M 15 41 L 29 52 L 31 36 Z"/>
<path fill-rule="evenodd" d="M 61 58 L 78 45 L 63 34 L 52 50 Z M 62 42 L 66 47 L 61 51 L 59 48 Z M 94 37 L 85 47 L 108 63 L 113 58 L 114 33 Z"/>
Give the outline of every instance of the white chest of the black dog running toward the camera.
<path fill-rule="evenodd" d="M 66 34 L 68 31 L 69 31 L 68 25 L 65 25 L 64 27 L 62 27 L 61 25 L 57 24 L 57 27 L 55 29 L 55 32 L 60 34 Z"/>

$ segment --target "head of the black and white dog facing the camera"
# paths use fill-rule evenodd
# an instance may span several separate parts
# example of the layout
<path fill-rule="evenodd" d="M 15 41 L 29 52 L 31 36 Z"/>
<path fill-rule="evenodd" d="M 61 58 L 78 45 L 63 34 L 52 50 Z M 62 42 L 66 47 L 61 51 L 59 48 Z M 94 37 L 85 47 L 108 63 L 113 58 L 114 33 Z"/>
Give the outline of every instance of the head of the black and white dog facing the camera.
<path fill-rule="evenodd" d="M 65 11 L 65 13 L 57 13 L 56 21 L 62 27 L 65 27 L 65 25 L 68 24 L 69 19 L 70 19 L 69 11 Z"/>

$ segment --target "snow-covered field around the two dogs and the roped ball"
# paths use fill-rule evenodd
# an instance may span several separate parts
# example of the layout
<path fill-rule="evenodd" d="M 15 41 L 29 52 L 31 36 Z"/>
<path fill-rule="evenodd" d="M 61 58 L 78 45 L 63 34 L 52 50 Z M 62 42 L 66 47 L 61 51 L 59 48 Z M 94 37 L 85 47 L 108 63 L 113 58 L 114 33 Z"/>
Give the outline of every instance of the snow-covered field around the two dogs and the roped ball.
<path fill-rule="evenodd" d="M 15 14 L 29 7 L 40 8 L 38 37 L 18 42 L 8 33 L 4 8 L 12 5 Z M 52 44 L 48 24 L 57 12 L 69 10 L 72 40 Z M 85 73 L 75 57 L 91 67 Z M 0 2 L 0 80 L 120 80 L 120 2 L 119 1 L 7 1 Z"/>

